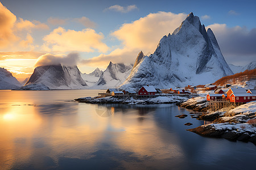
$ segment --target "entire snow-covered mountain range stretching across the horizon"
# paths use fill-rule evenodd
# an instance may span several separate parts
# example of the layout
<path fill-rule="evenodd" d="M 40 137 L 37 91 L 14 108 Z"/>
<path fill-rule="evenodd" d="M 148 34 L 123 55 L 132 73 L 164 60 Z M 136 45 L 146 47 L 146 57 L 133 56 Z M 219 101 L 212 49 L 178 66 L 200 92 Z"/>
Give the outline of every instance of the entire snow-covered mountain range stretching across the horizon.
<path fill-rule="evenodd" d="M 0 89 L 19 90 L 139 88 L 150 84 L 156 88 L 184 87 L 188 84 L 213 83 L 223 76 L 255 69 L 256 61 L 246 66 L 228 65 L 209 28 L 201 25 L 193 13 L 163 36 L 155 52 L 139 52 L 132 64 L 110 62 L 105 71 L 82 74 L 77 66 L 39 66 L 22 86 L 6 69 L 0 68 Z M 22 86 L 22 87 L 20 87 Z"/>

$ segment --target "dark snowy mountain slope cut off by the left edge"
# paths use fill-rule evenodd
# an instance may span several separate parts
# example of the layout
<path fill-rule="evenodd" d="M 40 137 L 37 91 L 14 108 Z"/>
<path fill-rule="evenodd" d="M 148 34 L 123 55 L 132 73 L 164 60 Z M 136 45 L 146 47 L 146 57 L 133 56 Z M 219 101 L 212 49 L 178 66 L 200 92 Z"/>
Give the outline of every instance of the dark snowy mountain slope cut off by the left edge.
<path fill-rule="evenodd" d="M 0 89 L 13 89 L 22 86 L 18 80 L 5 68 L 0 67 Z"/>

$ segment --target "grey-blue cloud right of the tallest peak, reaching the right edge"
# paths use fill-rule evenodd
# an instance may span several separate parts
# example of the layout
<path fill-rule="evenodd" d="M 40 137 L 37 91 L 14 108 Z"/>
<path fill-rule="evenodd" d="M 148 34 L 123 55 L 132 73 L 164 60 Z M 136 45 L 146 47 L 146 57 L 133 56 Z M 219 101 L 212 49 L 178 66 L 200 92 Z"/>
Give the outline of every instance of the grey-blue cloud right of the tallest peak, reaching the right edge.
<path fill-rule="evenodd" d="M 240 26 L 229 28 L 226 24 L 212 24 L 207 28 L 211 28 L 214 32 L 228 63 L 243 64 L 255 60 L 256 28 L 251 30 Z"/>

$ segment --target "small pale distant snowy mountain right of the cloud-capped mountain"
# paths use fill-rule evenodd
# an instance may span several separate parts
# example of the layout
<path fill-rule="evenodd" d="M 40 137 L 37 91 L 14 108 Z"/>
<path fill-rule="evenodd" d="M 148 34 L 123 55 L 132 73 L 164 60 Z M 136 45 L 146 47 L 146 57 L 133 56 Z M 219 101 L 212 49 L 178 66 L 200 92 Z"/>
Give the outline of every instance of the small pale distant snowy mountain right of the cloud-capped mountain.
<path fill-rule="evenodd" d="M 85 80 L 85 83 L 88 84 L 88 86 L 93 86 L 98 82 L 98 79 L 100 79 L 100 76 L 102 73 L 103 71 L 97 68 L 90 74 L 81 73 L 81 76 L 82 76 L 82 79 Z"/>

